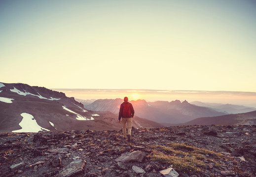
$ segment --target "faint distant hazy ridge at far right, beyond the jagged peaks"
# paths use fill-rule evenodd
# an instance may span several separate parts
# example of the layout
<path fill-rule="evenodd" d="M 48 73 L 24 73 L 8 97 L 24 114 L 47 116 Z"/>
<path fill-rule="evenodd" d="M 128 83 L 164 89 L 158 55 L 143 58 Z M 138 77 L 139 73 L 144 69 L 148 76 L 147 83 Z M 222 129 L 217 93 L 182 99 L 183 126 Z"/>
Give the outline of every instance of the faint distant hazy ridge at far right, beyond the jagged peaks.
<path fill-rule="evenodd" d="M 238 113 L 248 113 L 248 112 L 256 111 L 256 108 L 247 107 L 243 105 L 203 103 L 200 101 L 193 101 L 191 102 L 191 104 L 196 106 L 208 107 L 218 112 L 223 112 L 226 114 L 238 114 Z"/>

